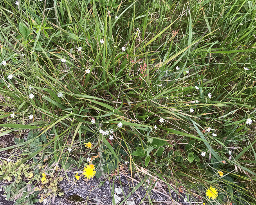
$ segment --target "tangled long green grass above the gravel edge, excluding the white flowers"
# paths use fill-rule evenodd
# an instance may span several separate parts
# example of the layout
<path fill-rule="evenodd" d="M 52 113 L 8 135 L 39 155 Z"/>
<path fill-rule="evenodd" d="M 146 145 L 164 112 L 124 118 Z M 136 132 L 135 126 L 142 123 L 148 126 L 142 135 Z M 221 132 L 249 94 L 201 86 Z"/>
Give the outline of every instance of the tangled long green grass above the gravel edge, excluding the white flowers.
<path fill-rule="evenodd" d="M 90 157 L 97 177 L 125 169 L 207 204 L 256 204 L 255 20 L 247 0 L 0 0 L 0 136 L 16 140 L 0 151 L 31 170 Z"/>

